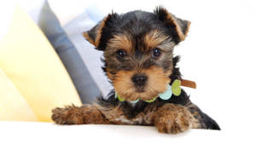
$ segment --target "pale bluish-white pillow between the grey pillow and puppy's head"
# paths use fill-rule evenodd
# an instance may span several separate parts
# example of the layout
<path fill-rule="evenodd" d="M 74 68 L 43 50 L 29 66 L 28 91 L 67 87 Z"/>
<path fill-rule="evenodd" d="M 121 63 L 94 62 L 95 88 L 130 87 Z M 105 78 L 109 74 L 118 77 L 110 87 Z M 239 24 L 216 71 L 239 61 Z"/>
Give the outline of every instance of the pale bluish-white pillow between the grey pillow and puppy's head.
<path fill-rule="evenodd" d="M 106 96 L 113 88 L 102 71 L 102 51 L 94 49 L 95 47 L 87 42 L 82 35 L 83 32 L 90 30 L 99 20 L 102 20 L 104 16 L 105 14 L 101 14 L 99 9 L 86 9 L 83 14 L 80 14 L 62 27 L 78 49 L 79 55 L 84 60 L 90 75 L 95 79 L 99 89 L 101 89 L 102 95 Z"/>

